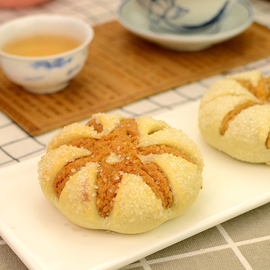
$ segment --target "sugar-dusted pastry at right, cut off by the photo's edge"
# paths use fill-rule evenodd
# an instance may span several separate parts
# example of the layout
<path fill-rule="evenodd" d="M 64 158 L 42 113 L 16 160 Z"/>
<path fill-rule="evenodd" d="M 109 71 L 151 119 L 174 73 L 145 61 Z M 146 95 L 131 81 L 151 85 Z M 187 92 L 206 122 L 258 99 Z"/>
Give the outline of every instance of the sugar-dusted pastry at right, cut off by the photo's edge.
<path fill-rule="evenodd" d="M 270 165 L 270 77 L 253 70 L 215 82 L 201 100 L 199 128 L 233 158 Z"/>

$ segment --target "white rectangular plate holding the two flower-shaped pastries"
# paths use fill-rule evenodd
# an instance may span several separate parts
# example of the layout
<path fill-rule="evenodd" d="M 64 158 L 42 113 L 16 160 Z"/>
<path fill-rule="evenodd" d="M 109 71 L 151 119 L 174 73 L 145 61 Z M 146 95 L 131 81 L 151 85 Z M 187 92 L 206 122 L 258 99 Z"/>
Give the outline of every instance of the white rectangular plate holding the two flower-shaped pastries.
<path fill-rule="evenodd" d="M 0 170 L 0 235 L 31 270 L 118 269 L 269 202 L 270 167 L 208 146 L 198 130 L 198 106 L 189 103 L 155 117 L 182 129 L 204 156 L 203 189 L 184 215 L 140 235 L 80 228 L 43 196 L 38 157 Z"/>

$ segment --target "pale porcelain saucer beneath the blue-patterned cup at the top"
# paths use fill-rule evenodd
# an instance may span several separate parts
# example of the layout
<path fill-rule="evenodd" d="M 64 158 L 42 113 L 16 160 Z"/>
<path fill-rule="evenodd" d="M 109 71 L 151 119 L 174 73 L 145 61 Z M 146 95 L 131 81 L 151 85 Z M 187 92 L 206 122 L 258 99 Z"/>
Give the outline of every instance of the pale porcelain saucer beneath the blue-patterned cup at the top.
<path fill-rule="evenodd" d="M 226 18 L 214 27 L 197 32 L 157 32 L 135 1 L 125 0 L 118 6 L 117 18 L 133 34 L 161 47 L 176 51 L 200 51 L 244 32 L 252 24 L 254 13 L 250 4 L 237 1 Z"/>

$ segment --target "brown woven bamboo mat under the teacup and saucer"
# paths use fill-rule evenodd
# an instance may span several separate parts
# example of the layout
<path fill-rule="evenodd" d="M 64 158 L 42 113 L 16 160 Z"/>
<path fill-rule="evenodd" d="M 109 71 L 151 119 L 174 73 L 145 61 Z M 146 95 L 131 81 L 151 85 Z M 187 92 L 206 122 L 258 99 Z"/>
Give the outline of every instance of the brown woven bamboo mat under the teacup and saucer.
<path fill-rule="evenodd" d="M 210 49 L 174 52 L 113 21 L 95 27 L 85 68 L 61 92 L 31 94 L 0 72 L 0 109 L 25 131 L 38 135 L 269 55 L 270 30 L 256 23 Z"/>

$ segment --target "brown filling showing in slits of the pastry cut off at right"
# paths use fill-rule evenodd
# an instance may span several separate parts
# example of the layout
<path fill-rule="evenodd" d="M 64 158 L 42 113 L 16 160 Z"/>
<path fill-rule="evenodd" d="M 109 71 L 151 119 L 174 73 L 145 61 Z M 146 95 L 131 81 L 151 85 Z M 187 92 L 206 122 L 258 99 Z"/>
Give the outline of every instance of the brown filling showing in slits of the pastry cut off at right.
<path fill-rule="evenodd" d="M 243 110 L 254 106 L 254 105 L 263 105 L 265 103 L 270 102 L 270 77 L 265 78 L 261 77 L 259 84 L 254 87 L 249 81 L 246 80 L 237 80 L 243 87 L 248 89 L 259 101 L 253 102 L 249 101 L 244 104 L 237 105 L 233 110 L 228 112 L 228 114 L 224 117 L 221 127 L 220 134 L 224 135 L 227 131 L 230 121 L 232 121 L 239 113 Z M 270 131 L 268 133 L 267 139 L 265 141 L 266 148 L 270 149 Z"/>

